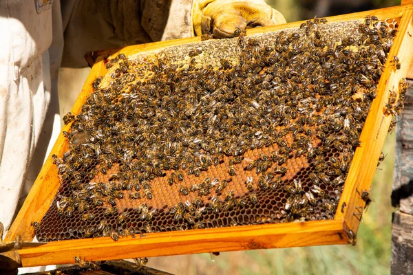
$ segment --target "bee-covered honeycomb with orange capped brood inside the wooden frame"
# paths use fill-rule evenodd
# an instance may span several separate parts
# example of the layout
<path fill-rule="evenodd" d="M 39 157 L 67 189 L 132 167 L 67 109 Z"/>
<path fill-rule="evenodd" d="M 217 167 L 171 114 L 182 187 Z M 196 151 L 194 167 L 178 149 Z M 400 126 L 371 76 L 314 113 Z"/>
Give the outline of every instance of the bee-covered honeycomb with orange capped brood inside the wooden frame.
<path fill-rule="evenodd" d="M 395 34 L 314 19 L 105 60 L 37 239 L 333 219 Z"/>

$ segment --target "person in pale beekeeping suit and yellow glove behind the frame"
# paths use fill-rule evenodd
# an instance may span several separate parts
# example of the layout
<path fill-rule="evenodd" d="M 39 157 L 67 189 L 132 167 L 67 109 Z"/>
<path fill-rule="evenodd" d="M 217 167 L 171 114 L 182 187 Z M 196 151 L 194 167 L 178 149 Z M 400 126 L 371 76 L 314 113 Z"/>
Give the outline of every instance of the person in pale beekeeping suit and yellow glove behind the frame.
<path fill-rule="evenodd" d="M 59 67 L 85 52 L 285 23 L 264 0 L 0 1 L 0 221 L 7 232 L 60 131 Z"/>

